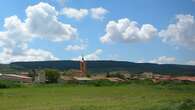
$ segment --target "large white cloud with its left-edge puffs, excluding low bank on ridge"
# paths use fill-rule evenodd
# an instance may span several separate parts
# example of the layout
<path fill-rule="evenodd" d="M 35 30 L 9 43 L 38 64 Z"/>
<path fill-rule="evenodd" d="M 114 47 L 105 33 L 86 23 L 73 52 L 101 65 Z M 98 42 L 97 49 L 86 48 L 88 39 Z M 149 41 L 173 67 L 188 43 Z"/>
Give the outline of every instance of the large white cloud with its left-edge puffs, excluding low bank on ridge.
<path fill-rule="evenodd" d="M 75 38 L 77 29 L 57 20 L 58 12 L 47 3 L 39 3 L 26 9 L 27 18 L 22 22 L 17 16 L 5 18 L 5 31 L 0 31 L 0 46 L 27 48 L 34 37 L 51 41 Z"/>

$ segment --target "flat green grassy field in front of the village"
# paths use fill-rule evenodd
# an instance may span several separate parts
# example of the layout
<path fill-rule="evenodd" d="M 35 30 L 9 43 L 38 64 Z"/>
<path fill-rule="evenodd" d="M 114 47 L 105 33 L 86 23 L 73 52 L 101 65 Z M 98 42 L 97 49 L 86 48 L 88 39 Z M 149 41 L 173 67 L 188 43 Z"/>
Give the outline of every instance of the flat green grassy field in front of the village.
<path fill-rule="evenodd" d="M 0 89 L 0 110 L 195 110 L 194 101 L 192 84 Z"/>

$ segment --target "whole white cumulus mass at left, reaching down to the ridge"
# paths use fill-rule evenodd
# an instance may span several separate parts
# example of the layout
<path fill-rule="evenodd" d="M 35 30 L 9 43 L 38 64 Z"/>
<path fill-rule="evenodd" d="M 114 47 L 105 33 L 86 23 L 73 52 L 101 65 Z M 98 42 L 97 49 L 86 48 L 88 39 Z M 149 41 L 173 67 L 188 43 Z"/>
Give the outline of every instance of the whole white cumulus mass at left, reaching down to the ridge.
<path fill-rule="evenodd" d="M 33 38 L 43 38 L 53 42 L 77 37 L 77 29 L 58 20 L 58 12 L 48 3 L 29 6 L 27 18 L 22 21 L 17 16 L 4 20 L 4 30 L 0 31 L 0 62 L 56 60 L 51 52 L 28 47 Z"/>

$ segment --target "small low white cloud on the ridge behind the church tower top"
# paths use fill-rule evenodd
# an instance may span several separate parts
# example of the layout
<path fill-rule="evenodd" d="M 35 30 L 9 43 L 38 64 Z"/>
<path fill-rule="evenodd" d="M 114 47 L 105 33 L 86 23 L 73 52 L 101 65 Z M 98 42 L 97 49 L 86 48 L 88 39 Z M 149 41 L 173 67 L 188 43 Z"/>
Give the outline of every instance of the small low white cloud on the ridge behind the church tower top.
<path fill-rule="evenodd" d="M 86 60 L 99 60 L 101 54 L 102 54 L 102 49 L 97 49 L 95 52 L 85 55 L 84 58 Z M 73 58 L 72 60 L 81 60 L 81 58 L 82 56 L 79 56 L 79 57 Z"/>

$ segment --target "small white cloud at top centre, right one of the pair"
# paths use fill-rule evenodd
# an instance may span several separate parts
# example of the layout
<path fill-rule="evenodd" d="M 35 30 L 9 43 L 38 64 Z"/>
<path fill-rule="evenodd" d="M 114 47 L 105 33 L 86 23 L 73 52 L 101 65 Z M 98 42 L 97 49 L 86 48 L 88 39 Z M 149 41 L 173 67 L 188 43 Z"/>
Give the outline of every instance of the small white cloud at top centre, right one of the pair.
<path fill-rule="evenodd" d="M 108 10 L 106 10 L 103 7 L 98 8 L 92 8 L 91 9 L 91 17 L 97 20 L 103 20 L 105 18 L 105 15 L 108 13 Z"/>

